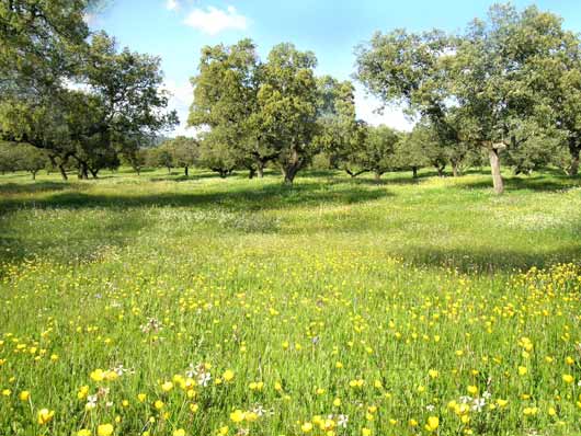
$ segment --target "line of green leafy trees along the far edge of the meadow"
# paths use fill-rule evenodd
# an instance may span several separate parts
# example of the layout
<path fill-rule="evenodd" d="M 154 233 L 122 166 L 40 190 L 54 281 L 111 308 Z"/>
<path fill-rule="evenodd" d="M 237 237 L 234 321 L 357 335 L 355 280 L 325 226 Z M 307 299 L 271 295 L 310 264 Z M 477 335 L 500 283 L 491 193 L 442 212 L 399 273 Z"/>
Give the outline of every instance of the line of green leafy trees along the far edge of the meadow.
<path fill-rule="evenodd" d="M 0 5 L 2 139 L 44 150 L 64 177 L 71 165 L 87 177 L 122 162 L 185 175 L 192 165 L 220 176 L 246 169 L 251 177 L 272 167 L 287 184 L 314 161 L 376 177 L 489 165 L 501 193 L 501 162 L 515 173 L 579 172 L 581 39 L 536 7 L 497 4 L 459 33 L 395 30 L 355 48 L 353 80 L 403 106 L 411 133 L 357 119 L 353 82 L 317 77 L 312 51 L 284 43 L 261 59 L 242 39 L 202 49 L 187 118 L 196 138 L 160 141 L 178 118 L 159 59 L 89 35 L 82 14 L 93 5 Z"/>

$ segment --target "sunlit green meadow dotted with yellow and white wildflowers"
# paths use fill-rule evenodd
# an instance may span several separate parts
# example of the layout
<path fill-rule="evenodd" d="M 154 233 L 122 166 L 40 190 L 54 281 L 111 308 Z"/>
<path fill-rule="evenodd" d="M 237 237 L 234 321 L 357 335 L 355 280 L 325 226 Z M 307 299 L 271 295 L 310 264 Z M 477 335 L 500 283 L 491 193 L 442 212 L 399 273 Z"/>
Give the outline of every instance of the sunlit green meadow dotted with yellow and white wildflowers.
<path fill-rule="evenodd" d="M 0 435 L 581 435 L 581 181 L 0 176 Z"/>

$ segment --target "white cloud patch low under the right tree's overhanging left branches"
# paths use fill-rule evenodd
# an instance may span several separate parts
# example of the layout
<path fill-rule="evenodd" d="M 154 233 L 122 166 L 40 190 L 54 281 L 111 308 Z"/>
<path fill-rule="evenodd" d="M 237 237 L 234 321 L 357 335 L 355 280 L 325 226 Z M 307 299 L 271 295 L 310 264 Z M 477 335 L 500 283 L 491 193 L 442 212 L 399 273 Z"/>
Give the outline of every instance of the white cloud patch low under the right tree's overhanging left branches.
<path fill-rule="evenodd" d="M 372 126 L 385 124 L 398 130 L 411 131 L 414 123 L 403 113 L 403 107 L 387 106 L 383 113 L 377 113 L 379 107 L 381 107 L 379 100 L 372 95 L 366 95 L 364 90 L 356 88 L 355 110 L 357 118 L 367 122 Z"/>

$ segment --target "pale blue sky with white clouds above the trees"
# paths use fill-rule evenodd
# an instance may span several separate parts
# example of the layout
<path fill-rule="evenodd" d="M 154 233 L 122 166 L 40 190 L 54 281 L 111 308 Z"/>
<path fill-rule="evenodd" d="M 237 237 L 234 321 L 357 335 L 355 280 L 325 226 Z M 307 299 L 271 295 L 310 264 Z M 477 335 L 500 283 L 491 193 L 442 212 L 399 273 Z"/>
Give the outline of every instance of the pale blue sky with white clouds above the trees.
<path fill-rule="evenodd" d="M 355 70 L 354 48 L 376 31 L 442 28 L 460 31 L 474 18 L 483 18 L 490 0 L 109 0 L 98 14 L 88 16 L 93 31 L 115 36 L 119 47 L 159 56 L 171 108 L 181 124 L 175 135 L 194 135 L 186 128 L 193 100 L 190 78 L 197 72 L 200 50 L 205 45 L 233 44 L 252 38 L 265 58 L 283 42 L 312 50 L 318 74 L 351 79 Z M 513 1 L 519 8 L 531 1 Z M 565 26 L 581 32 L 579 0 L 539 0 L 543 10 L 561 15 Z M 412 122 L 401 108 L 388 107 L 367 95 L 356 83 L 357 116 L 378 125 L 410 129 Z"/>

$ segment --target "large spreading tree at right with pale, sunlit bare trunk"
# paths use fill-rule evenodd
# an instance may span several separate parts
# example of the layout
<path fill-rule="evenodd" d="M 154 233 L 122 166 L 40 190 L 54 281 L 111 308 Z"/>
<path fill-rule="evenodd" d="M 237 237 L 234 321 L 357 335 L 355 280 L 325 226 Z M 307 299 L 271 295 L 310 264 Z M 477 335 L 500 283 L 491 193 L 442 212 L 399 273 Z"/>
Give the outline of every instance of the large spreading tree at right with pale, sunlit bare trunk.
<path fill-rule="evenodd" d="M 555 15 L 495 5 L 459 36 L 374 35 L 357 49 L 357 78 L 384 101 L 402 101 L 428 117 L 442 144 L 487 150 L 500 194 L 501 151 L 526 142 L 516 134 L 523 124 L 551 119 L 548 99 L 531 84 L 547 76 L 542 66 L 562 43 Z"/>

